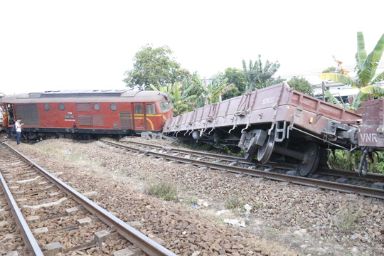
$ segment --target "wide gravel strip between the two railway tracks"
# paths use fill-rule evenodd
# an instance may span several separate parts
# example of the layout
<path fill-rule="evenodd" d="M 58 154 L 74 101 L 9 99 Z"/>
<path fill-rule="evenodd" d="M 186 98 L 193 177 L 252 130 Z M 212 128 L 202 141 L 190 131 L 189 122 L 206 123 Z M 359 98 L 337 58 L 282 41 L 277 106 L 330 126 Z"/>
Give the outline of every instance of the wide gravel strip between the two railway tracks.
<path fill-rule="evenodd" d="M 100 206 L 139 221 L 138 230 L 178 255 L 384 254 L 384 203 L 374 198 L 169 164 L 100 142 L 58 139 L 18 149 L 63 171 L 60 178 L 78 191 L 97 191 L 92 199 Z M 144 193 L 161 181 L 175 184 L 175 201 L 183 203 Z M 233 209 L 217 214 L 226 208 Z"/>

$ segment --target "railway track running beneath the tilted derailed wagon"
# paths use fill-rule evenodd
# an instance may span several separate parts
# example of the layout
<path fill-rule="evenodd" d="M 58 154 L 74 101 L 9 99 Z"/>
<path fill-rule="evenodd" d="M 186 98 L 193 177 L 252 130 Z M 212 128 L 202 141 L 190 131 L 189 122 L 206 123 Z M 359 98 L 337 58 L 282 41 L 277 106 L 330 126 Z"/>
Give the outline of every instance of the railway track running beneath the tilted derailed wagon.
<path fill-rule="evenodd" d="M 222 156 L 220 154 L 212 154 L 201 151 L 192 151 L 188 149 L 176 149 L 168 146 L 157 146 L 141 142 L 129 142 L 135 146 L 128 146 L 127 144 L 121 144 L 116 142 L 110 142 L 100 140 L 110 146 L 118 147 L 128 151 L 134 151 L 139 154 L 146 154 L 154 156 L 156 158 L 167 159 L 169 161 L 178 161 L 185 164 L 193 164 L 196 166 L 206 166 L 210 169 L 219 169 L 225 171 L 231 171 L 238 174 L 247 174 L 250 176 L 257 176 L 263 178 L 270 178 L 276 181 L 287 181 L 290 183 L 312 186 L 316 188 L 324 188 L 334 191 L 341 191 L 346 193 L 358 193 L 362 196 L 370 196 L 374 198 L 384 199 L 384 190 L 380 188 L 371 188 L 369 186 L 361 186 L 356 184 L 336 182 L 338 178 L 333 178 L 333 181 L 327 181 L 323 179 L 307 178 L 302 176 L 294 176 L 287 174 L 287 171 L 296 169 L 293 164 L 277 164 L 268 163 L 260 164 L 252 162 L 251 164 L 240 157 Z M 285 170 L 285 171 L 276 171 Z M 321 169 L 321 174 L 327 174 L 329 176 L 342 176 L 351 178 L 351 180 L 358 179 L 358 175 L 351 171 L 342 170 L 329 170 Z M 355 182 L 355 181 L 353 181 Z M 364 178 L 364 182 L 368 184 L 383 182 L 383 176 L 377 174 L 369 174 Z M 356 183 L 356 182 L 355 182 Z"/>

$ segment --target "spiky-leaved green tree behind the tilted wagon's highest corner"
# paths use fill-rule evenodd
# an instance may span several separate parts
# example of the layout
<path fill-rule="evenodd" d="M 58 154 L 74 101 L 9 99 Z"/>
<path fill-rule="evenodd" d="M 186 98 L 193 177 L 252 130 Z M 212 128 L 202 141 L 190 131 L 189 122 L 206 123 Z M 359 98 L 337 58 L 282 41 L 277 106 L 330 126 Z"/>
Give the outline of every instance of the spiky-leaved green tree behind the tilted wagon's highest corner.
<path fill-rule="evenodd" d="M 265 62 L 265 65 L 262 65 L 261 55 L 259 55 L 259 58 L 255 61 L 255 64 L 252 63 L 252 60 L 250 60 L 248 67 L 245 64 L 245 60 L 242 60 L 242 68 L 247 80 L 246 91 L 250 92 L 255 89 L 264 88 L 282 82 L 283 80 L 280 78 L 272 78 L 279 67 L 280 64 L 277 61 L 271 63 L 269 60 Z"/>

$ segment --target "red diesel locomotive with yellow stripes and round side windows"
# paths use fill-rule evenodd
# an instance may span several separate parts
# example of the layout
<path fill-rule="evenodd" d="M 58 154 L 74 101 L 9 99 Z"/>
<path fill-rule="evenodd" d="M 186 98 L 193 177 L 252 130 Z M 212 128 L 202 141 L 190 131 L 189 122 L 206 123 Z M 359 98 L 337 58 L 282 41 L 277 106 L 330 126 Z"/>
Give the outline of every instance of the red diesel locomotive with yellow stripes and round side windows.
<path fill-rule="evenodd" d="M 52 136 L 88 139 L 161 132 L 173 115 L 173 105 L 163 92 L 75 90 L 3 95 L 0 111 L 1 129 L 11 133 L 14 120 L 22 118 L 23 137 L 28 140 Z"/>

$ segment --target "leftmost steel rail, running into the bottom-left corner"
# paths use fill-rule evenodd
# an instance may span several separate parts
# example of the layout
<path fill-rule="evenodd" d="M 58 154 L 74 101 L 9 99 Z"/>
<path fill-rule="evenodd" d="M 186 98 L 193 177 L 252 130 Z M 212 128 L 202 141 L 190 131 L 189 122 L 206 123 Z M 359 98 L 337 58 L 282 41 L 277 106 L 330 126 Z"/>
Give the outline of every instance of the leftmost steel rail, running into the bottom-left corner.
<path fill-rule="evenodd" d="M 38 242 L 33 236 L 31 229 L 28 227 L 26 223 L 26 219 L 21 214 L 20 209 L 17 206 L 14 196 L 12 196 L 11 191 L 6 185 L 6 181 L 3 175 L 0 173 L 1 180 L 1 188 L 3 188 L 4 194 L 6 196 L 6 201 L 8 201 L 9 207 L 11 208 L 12 215 L 15 218 L 16 225 L 18 230 L 20 230 L 21 238 L 23 238 L 23 242 L 26 245 L 29 255 L 43 256 L 43 252 L 38 246 Z"/>

